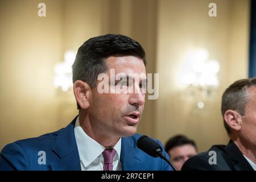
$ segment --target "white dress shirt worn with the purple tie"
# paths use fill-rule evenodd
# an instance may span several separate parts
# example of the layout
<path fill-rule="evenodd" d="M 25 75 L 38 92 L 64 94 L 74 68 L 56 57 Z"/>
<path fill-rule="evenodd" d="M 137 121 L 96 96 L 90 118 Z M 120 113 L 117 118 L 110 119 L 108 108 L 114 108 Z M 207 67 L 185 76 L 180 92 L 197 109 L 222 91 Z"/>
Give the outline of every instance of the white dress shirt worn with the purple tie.
<path fill-rule="evenodd" d="M 75 124 L 75 138 L 82 171 L 102 171 L 104 166 L 102 152 L 105 150 L 105 147 L 84 132 L 80 126 L 79 117 L 77 117 Z M 113 171 L 121 171 L 121 138 L 113 148 L 117 151 L 113 159 Z"/>

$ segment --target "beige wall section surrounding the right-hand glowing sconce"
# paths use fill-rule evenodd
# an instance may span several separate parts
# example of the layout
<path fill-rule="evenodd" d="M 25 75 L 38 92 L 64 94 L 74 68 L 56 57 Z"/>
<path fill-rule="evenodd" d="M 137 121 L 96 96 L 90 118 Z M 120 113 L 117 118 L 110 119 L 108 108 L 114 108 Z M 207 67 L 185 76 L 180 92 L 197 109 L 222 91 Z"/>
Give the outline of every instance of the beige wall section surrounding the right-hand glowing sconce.
<path fill-rule="evenodd" d="M 217 17 L 208 16 L 211 1 L 159 1 L 157 72 L 160 97 L 156 105 L 156 137 L 175 134 L 195 139 L 199 150 L 228 142 L 220 101 L 224 89 L 247 76 L 249 1 L 214 1 Z M 189 51 L 206 48 L 220 62 L 220 87 L 213 100 L 197 109 L 193 96 L 181 88 L 178 76 Z"/>

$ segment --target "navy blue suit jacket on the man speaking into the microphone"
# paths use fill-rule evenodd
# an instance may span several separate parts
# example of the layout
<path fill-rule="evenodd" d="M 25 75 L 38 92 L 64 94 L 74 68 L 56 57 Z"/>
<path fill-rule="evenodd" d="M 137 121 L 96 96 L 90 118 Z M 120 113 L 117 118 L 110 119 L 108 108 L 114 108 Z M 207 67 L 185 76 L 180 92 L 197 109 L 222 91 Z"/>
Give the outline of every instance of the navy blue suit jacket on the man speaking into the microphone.
<path fill-rule="evenodd" d="M 75 122 L 76 118 L 67 127 L 54 133 L 7 144 L 1 151 L 0 170 L 80 171 L 79 151 L 74 132 Z M 122 138 L 122 170 L 172 170 L 164 160 L 153 158 L 137 147 L 137 139 L 140 136 L 135 134 Z M 156 141 L 162 146 L 158 140 Z M 168 155 L 164 155 L 168 159 Z M 42 160 L 43 156 L 46 157 L 45 161 Z"/>

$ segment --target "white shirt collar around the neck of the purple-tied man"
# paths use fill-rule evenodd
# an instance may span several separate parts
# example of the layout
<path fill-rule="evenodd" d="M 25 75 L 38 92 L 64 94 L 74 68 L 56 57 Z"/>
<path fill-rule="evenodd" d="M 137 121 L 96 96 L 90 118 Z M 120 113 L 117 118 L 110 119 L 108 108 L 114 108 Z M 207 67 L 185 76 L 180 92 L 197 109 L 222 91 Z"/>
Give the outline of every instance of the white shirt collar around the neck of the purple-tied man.
<path fill-rule="evenodd" d="M 105 147 L 100 143 L 96 142 L 96 140 L 90 138 L 82 129 L 79 122 L 79 117 L 76 119 L 75 124 L 75 138 L 76 144 L 79 151 L 80 160 L 84 166 L 89 166 L 95 159 L 98 158 L 105 150 Z M 121 156 L 121 138 L 113 147 L 115 151 L 117 151 L 118 160 L 120 161 Z"/>

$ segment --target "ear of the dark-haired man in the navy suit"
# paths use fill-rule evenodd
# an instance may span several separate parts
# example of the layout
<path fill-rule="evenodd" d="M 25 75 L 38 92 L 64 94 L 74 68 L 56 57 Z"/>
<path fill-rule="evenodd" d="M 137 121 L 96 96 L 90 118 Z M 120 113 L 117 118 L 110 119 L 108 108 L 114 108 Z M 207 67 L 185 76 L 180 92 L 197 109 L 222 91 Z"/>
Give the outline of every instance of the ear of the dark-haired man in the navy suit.
<path fill-rule="evenodd" d="M 80 107 L 87 109 L 89 107 L 89 97 L 91 94 L 90 86 L 84 81 L 76 80 L 73 83 L 73 91 Z"/>

